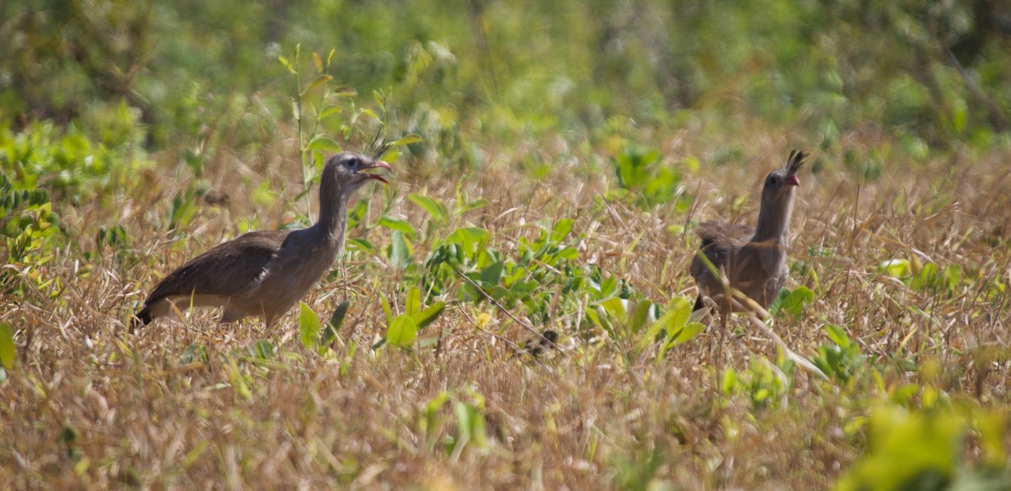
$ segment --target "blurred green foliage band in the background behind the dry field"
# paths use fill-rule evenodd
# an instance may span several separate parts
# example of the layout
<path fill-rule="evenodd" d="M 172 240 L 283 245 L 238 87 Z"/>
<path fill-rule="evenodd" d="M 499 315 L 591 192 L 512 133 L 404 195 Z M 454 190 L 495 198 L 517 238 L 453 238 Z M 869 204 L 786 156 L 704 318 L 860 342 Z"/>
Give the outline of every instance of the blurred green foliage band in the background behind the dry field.
<path fill-rule="evenodd" d="M 462 163 L 461 128 L 508 143 L 741 111 L 826 147 L 897 130 L 915 152 L 1008 129 L 1009 17 L 990 0 L 26 0 L 0 7 L 0 118 L 104 132 L 125 106 L 149 146 L 223 125 L 241 147 L 271 131 L 243 113 L 290 110 L 276 61 L 301 44 L 336 47 L 327 75 L 391 89 L 405 133 Z"/>

